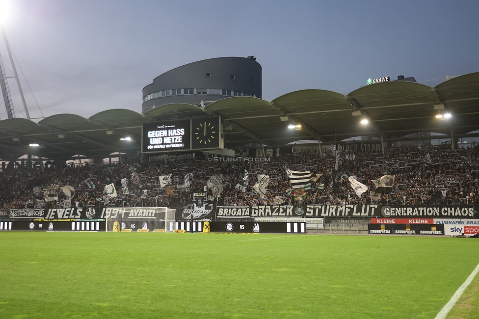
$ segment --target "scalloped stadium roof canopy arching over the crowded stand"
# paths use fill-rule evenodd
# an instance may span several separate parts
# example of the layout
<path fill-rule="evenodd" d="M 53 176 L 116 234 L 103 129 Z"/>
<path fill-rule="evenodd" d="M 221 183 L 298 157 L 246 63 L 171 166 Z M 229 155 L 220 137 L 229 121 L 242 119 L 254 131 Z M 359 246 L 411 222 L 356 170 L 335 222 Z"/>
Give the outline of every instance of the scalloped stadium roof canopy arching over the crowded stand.
<path fill-rule="evenodd" d="M 452 117 L 438 119 L 439 112 L 450 112 Z M 231 97 L 204 108 L 168 104 L 143 114 L 110 109 L 88 119 L 73 114 L 57 114 L 39 122 L 6 119 L 0 121 L 0 159 L 16 160 L 25 154 L 50 160 L 78 155 L 109 157 L 116 152 L 137 154 L 143 123 L 210 115 L 224 119 L 225 148 L 251 143 L 282 146 L 303 139 L 334 143 L 354 136 L 395 141 L 422 132 L 477 136 L 468 133 L 479 130 L 479 72 L 435 87 L 390 81 L 364 86 L 347 95 L 309 89 L 270 102 L 254 97 Z M 364 118 L 369 124 L 360 123 Z M 292 124 L 301 125 L 301 129 L 288 129 Z M 132 141 L 120 139 L 126 136 Z M 31 143 L 40 147 L 31 147 Z"/>

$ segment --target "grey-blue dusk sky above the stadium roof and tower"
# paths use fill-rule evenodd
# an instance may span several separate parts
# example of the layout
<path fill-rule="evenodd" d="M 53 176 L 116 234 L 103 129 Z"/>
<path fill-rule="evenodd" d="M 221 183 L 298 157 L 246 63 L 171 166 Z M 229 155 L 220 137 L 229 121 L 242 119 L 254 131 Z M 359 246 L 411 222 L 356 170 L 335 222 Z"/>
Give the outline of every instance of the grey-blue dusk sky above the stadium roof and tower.
<path fill-rule="evenodd" d="M 268 101 L 310 88 L 347 94 L 368 78 L 434 86 L 479 71 L 479 1 L 10 3 L 3 27 L 44 116 L 141 112 L 141 90 L 155 77 L 220 56 L 256 56 Z M 3 42 L 0 53 L 9 69 Z M 21 83 L 30 116 L 41 117 Z M 25 117 L 16 84 L 11 90 Z"/>

